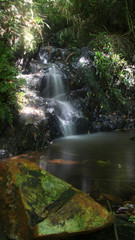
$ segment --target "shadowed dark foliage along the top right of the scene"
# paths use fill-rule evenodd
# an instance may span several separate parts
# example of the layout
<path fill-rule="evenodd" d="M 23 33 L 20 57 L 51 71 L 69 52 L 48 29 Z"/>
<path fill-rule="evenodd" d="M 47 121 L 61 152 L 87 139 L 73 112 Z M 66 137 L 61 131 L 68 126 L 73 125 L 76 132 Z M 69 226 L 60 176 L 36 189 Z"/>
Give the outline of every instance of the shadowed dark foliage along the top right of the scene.
<path fill-rule="evenodd" d="M 51 4 L 67 19 L 67 27 L 72 28 L 70 36 L 78 41 L 77 44 L 86 42 L 95 28 L 98 31 L 104 29 L 108 32 L 129 32 L 135 37 L 134 0 L 56 0 L 51 1 Z M 53 16 L 51 17 L 53 19 Z M 63 32 L 63 29 L 61 30 Z M 64 34 L 62 41 L 64 41 Z"/>

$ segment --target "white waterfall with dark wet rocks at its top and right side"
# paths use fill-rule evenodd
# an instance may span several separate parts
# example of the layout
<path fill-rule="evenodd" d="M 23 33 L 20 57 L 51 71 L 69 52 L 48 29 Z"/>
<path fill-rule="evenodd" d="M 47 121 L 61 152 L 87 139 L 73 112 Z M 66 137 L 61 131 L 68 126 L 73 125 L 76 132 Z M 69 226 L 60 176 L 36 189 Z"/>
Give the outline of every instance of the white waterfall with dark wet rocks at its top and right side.
<path fill-rule="evenodd" d="M 47 47 L 41 47 L 39 52 L 43 69 L 39 92 L 48 104 L 49 125 L 52 131 L 54 129 L 52 135 L 56 137 L 88 132 L 88 121 L 80 110 L 81 104 L 78 104 L 79 101 L 76 99 L 72 102 L 72 94 L 70 95 L 68 91 L 70 68 L 63 61 L 67 56 L 69 56 L 69 50 L 54 47 L 50 47 L 50 51 Z M 78 66 L 80 66 L 78 63 L 75 64 L 75 69 Z"/>

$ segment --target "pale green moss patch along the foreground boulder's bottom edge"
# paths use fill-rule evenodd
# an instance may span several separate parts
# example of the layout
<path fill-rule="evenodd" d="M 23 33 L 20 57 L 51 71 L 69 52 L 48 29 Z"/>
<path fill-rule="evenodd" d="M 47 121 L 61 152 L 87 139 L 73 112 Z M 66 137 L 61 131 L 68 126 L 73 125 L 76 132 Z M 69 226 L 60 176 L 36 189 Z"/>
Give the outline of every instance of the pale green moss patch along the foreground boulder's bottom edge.
<path fill-rule="evenodd" d="M 103 225 L 104 220 L 101 215 L 95 216 L 94 212 L 90 212 L 85 205 L 80 206 L 77 212 L 75 210 L 75 203 L 73 203 L 73 207 L 74 209 L 71 211 L 67 206 L 67 208 L 64 208 L 63 213 L 60 210 L 39 223 L 39 236 L 62 232 L 74 233 L 87 231 L 98 229 Z"/>

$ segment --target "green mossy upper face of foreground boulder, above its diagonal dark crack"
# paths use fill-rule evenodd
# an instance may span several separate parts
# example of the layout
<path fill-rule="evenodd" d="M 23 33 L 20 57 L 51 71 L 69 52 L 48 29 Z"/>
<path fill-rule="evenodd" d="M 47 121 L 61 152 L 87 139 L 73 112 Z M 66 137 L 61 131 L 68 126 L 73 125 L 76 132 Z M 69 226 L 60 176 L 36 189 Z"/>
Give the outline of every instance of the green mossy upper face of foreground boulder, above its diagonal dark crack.
<path fill-rule="evenodd" d="M 19 164 L 15 174 L 15 184 L 21 190 L 22 201 L 30 224 L 36 225 L 44 219 L 48 211 L 53 212 L 74 194 L 70 185 L 43 170 L 28 169 L 27 164 Z"/>

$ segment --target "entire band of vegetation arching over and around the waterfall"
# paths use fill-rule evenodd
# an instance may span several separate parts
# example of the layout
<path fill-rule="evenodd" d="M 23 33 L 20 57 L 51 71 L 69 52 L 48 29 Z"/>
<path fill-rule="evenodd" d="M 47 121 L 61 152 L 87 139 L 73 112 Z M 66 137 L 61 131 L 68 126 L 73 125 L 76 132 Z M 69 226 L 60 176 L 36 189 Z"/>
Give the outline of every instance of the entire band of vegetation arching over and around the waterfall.
<path fill-rule="evenodd" d="M 134 0 L 0 0 L 0 133 L 18 110 L 17 59 L 25 67 L 41 45 L 88 46 L 99 76 L 96 97 L 114 110 L 132 98 L 134 40 Z"/>

